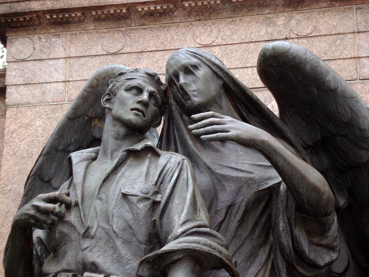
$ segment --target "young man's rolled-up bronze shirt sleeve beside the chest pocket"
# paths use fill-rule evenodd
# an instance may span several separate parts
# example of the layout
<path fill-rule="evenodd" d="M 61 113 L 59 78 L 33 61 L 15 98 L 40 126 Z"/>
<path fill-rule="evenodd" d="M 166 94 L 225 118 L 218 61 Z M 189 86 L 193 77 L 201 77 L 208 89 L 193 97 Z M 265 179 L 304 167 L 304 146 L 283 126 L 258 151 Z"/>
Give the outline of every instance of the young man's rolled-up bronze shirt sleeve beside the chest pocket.
<path fill-rule="evenodd" d="M 169 166 L 169 167 L 168 167 Z M 193 257 L 203 271 L 224 268 L 238 276 L 224 238 L 210 229 L 209 216 L 192 165 L 182 158 L 166 165 L 161 180 L 162 201 L 157 213 L 157 232 L 162 248 L 139 263 L 139 276 L 162 276 L 165 267 L 183 257 Z"/>

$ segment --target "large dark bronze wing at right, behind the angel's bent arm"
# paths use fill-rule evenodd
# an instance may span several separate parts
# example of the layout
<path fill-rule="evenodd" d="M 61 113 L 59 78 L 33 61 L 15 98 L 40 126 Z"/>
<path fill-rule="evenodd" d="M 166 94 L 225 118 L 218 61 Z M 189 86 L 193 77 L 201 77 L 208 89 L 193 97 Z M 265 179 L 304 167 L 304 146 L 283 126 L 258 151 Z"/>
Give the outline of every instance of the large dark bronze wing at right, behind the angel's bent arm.
<path fill-rule="evenodd" d="M 280 119 L 327 179 L 346 243 L 356 261 L 368 268 L 368 105 L 325 62 L 297 44 L 266 44 L 257 70 L 276 99 Z M 345 250 L 341 243 L 341 252 Z"/>

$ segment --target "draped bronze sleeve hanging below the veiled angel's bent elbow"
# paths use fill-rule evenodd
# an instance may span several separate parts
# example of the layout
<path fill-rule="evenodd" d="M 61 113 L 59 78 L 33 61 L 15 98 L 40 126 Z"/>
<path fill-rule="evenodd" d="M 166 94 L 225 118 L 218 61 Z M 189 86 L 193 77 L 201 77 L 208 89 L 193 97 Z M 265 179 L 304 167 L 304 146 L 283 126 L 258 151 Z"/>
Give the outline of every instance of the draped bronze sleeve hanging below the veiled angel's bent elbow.
<path fill-rule="evenodd" d="M 286 276 L 297 276 L 296 272 L 303 276 L 324 273 L 339 253 L 336 213 L 313 218 L 298 212 L 283 182 L 276 187 L 273 198 L 272 224 L 278 271 Z M 294 272 L 289 272 L 291 269 Z"/>

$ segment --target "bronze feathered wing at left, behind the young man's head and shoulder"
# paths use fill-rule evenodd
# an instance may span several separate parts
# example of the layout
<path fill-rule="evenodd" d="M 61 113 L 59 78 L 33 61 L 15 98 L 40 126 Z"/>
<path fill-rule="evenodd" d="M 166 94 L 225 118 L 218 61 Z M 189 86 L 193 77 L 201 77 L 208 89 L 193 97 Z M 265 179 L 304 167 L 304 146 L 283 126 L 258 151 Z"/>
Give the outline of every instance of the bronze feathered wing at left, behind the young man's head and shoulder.
<path fill-rule="evenodd" d="M 127 68 L 124 65 L 104 66 L 86 82 L 51 134 L 28 175 L 19 208 L 41 193 L 57 191 L 68 180 L 70 153 L 100 146 L 105 122 L 101 97 L 111 79 Z M 155 129 L 148 133 L 154 141 L 158 141 Z"/>

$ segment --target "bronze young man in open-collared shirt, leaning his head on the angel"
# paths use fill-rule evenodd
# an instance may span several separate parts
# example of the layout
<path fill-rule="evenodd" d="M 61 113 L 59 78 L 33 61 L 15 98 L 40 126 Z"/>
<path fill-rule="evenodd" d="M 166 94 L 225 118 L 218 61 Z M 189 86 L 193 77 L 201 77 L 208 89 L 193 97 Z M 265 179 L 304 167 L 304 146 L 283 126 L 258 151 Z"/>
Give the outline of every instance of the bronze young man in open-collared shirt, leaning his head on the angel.
<path fill-rule="evenodd" d="M 197 277 L 221 267 L 237 276 L 223 238 L 208 229 L 189 161 L 144 137 L 159 126 L 165 99 L 150 69 L 113 78 L 101 99 L 101 146 L 70 154 L 72 177 L 59 192 L 16 213 L 7 277 Z M 33 268 L 24 267 L 32 251 Z"/>

